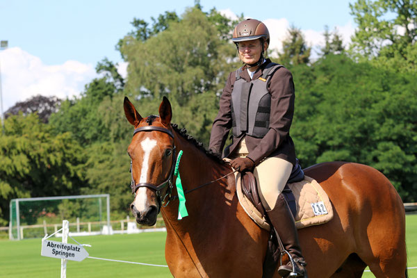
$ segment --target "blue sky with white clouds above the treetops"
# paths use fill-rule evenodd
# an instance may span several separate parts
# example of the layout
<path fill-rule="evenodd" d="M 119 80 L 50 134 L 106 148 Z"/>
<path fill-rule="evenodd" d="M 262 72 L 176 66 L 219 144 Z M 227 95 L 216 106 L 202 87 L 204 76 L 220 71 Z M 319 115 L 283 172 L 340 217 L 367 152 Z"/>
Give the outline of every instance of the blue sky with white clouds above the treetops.
<path fill-rule="evenodd" d="M 259 19 L 270 31 L 270 49 L 280 49 L 286 30 L 300 28 L 313 49 L 323 44 L 325 26 L 337 28 L 348 44 L 354 19 L 345 0 L 229 1 L 201 0 L 204 12 L 215 8 L 228 17 Z M 95 66 L 103 58 L 118 63 L 126 76 L 126 63 L 115 49 L 132 31 L 133 18 L 151 18 L 194 6 L 194 0 L 0 0 L 0 50 L 3 111 L 34 95 L 77 97 L 97 77 Z"/>

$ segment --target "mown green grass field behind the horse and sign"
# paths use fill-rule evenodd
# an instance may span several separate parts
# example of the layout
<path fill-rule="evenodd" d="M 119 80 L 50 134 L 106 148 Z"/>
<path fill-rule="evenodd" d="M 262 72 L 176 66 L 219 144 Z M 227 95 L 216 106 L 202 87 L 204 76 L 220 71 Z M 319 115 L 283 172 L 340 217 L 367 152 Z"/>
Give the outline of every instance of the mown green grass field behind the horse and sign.
<path fill-rule="evenodd" d="M 164 259 L 165 236 L 163 232 L 85 236 L 75 238 L 85 247 L 90 256 L 140 263 L 166 265 Z M 51 238 L 52 239 L 52 238 Z M 55 239 L 52 239 L 55 240 Z M 57 239 L 59 240 L 59 239 Z M 73 243 L 69 238 L 69 243 Z M 40 256 L 41 239 L 21 241 L 0 240 L 0 277 L 60 277 L 60 260 Z M 407 215 L 408 266 L 417 266 L 417 215 Z M 133 265 L 85 259 L 82 262 L 68 261 L 67 277 L 171 277 L 168 268 Z M 366 272 L 363 277 L 374 277 Z M 409 270 L 409 277 L 417 277 L 417 269 Z"/>

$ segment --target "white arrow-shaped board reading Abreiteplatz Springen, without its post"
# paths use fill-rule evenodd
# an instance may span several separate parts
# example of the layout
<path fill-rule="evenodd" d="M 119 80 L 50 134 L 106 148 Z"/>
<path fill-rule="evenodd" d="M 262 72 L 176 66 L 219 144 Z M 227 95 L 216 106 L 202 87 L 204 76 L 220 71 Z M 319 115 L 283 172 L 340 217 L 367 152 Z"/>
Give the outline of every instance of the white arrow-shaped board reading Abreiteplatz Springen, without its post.
<path fill-rule="evenodd" d="M 83 259 L 88 257 L 88 252 L 81 245 L 58 243 L 51 240 L 42 240 L 42 251 L 40 254 L 70 261 L 83 261 Z"/>

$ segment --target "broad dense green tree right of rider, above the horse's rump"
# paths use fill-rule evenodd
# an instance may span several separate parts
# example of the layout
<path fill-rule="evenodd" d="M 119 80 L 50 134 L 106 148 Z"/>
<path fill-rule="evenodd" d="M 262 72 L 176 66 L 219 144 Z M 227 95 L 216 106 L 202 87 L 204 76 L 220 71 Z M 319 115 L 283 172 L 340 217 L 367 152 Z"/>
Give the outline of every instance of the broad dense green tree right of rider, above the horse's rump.
<path fill-rule="evenodd" d="M 329 54 L 311 71 L 293 68 L 302 90 L 296 92 L 292 134 L 302 163 L 370 165 L 404 200 L 417 199 L 416 74 L 355 63 L 343 54 Z"/>

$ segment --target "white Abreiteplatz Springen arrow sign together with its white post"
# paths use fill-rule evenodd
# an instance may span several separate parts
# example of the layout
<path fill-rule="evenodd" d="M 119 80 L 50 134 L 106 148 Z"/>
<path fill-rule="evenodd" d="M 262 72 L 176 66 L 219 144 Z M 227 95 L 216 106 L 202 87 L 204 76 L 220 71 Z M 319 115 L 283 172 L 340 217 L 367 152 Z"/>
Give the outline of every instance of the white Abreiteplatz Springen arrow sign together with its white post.
<path fill-rule="evenodd" d="M 75 245 L 68 243 L 68 232 L 70 231 L 70 222 L 63 220 L 63 242 L 58 243 L 56 241 L 47 240 L 51 236 L 45 236 L 42 239 L 42 250 L 40 254 L 42 256 L 49 256 L 51 258 L 61 259 L 61 278 L 67 277 L 67 260 L 71 261 L 83 261 L 88 257 L 88 252 L 85 251 L 82 245 Z M 78 242 L 77 242 L 78 243 Z"/>

